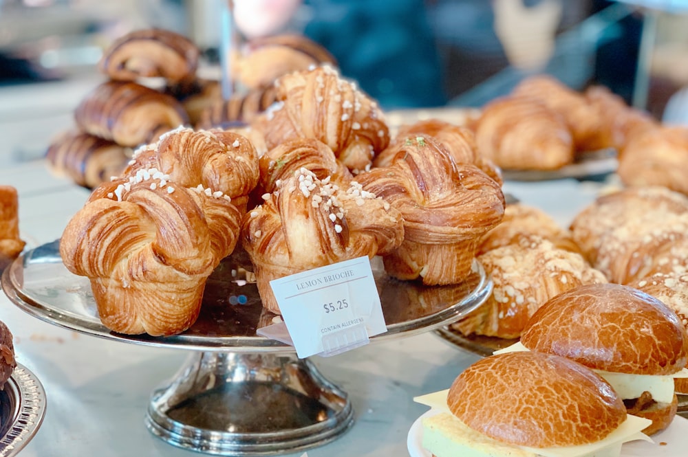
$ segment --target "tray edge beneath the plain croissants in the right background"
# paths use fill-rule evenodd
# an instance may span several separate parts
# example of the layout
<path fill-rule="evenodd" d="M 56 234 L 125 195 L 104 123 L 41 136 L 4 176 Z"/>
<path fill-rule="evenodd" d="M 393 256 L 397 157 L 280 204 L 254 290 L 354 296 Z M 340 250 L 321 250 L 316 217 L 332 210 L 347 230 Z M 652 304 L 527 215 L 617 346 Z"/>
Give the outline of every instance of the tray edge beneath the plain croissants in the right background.
<path fill-rule="evenodd" d="M 616 171 L 619 161 L 614 149 L 581 153 L 574 163 L 558 170 L 504 170 L 506 181 L 551 181 L 552 179 L 595 179 Z"/>

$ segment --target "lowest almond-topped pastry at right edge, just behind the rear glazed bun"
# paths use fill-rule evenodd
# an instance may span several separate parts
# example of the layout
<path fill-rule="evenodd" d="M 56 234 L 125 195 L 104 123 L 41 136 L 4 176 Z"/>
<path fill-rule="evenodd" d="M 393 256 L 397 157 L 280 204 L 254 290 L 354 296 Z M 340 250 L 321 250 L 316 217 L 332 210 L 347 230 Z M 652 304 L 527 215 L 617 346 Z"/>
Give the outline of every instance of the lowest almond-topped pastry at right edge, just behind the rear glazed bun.
<path fill-rule="evenodd" d="M 656 273 L 636 280 L 629 286 L 649 293 L 669 306 L 678 315 L 683 326 L 688 328 L 688 269 Z M 688 394 L 688 377 L 674 378 L 674 390 L 679 394 Z"/>

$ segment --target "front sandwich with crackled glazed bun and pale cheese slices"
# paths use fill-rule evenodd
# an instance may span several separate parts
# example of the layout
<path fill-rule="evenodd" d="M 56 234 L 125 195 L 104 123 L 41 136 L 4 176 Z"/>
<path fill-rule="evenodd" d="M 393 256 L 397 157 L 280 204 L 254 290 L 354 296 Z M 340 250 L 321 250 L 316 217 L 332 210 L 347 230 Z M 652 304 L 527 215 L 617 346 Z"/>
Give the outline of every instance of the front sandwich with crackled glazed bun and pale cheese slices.
<path fill-rule="evenodd" d="M 627 414 L 595 372 L 558 355 L 491 355 L 466 368 L 449 390 L 415 399 L 422 446 L 436 457 L 618 457 L 646 439 L 649 420 Z"/>

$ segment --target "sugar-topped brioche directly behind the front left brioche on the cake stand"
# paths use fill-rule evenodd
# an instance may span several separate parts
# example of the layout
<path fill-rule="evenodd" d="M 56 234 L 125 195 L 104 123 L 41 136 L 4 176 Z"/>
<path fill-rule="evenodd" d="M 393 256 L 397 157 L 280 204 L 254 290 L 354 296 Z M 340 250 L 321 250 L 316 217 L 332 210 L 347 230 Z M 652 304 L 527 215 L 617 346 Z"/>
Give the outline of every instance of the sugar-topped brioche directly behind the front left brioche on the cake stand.
<path fill-rule="evenodd" d="M 139 148 L 123 175 L 133 176 L 147 168 L 169 175 L 179 186 L 200 184 L 211 192 L 221 192 L 242 211 L 259 177 L 255 148 L 232 131 L 169 131 L 157 144 Z"/>

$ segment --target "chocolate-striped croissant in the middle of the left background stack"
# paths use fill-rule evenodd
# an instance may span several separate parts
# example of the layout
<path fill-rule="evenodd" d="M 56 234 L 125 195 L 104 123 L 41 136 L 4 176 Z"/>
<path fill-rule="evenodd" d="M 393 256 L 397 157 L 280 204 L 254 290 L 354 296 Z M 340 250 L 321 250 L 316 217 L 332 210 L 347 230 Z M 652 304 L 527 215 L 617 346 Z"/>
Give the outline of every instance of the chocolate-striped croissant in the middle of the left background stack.
<path fill-rule="evenodd" d="M 189 118 L 181 104 L 136 82 L 108 81 L 92 90 L 74 111 L 83 131 L 120 146 L 153 142 Z"/>

